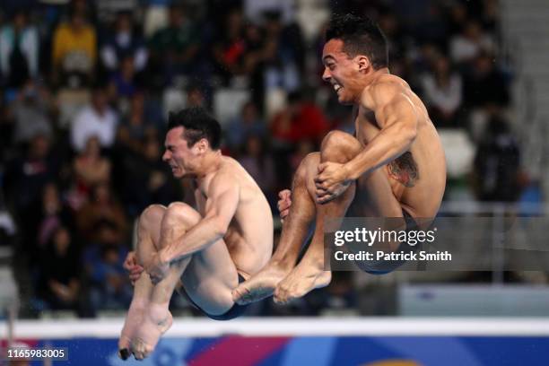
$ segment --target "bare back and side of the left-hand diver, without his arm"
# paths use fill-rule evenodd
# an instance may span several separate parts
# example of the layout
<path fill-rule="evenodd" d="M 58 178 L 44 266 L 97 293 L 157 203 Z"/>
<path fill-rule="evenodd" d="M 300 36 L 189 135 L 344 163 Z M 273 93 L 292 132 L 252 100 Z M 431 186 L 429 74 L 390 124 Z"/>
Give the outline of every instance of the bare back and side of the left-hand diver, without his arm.
<path fill-rule="evenodd" d="M 231 258 L 245 278 L 257 273 L 273 252 L 273 216 L 261 188 L 251 178 L 238 161 L 223 156 L 222 164 L 210 177 L 201 179 L 198 190 L 205 199 L 210 182 L 216 174 L 224 173 L 231 177 L 230 184 L 238 184 L 239 204 L 232 218 L 229 230 L 223 238 L 229 248 Z M 204 215 L 204 205 L 199 205 Z"/>

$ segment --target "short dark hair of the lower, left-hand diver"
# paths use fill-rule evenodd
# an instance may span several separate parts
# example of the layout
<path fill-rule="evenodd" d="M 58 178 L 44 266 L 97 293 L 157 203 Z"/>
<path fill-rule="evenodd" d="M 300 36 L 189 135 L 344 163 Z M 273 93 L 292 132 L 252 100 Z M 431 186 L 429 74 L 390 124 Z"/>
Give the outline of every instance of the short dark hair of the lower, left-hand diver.
<path fill-rule="evenodd" d="M 168 131 L 177 127 L 185 127 L 185 139 L 188 147 L 192 147 L 202 138 L 208 140 L 212 150 L 219 149 L 222 130 L 219 122 L 204 108 L 192 107 L 170 112 Z"/>

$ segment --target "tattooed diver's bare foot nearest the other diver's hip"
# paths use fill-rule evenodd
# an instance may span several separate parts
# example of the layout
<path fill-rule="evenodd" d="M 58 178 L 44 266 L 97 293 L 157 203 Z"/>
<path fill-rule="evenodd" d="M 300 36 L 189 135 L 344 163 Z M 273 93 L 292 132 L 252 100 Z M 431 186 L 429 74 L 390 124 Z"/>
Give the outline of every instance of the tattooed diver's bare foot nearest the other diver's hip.
<path fill-rule="evenodd" d="M 248 281 L 232 290 L 232 300 L 239 305 L 247 305 L 250 302 L 260 301 L 273 294 L 276 285 L 290 273 L 292 267 L 279 266 L 268 263 L 257 274 L 252 275 Z"/>

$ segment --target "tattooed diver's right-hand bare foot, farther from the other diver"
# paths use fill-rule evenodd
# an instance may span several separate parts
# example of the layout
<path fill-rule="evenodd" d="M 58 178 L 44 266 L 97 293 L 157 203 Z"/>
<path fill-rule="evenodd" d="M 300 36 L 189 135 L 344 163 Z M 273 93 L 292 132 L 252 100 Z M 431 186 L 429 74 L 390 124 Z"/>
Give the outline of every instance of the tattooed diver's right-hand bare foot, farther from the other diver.
<path fill-rule="evenodd" d="M 303 258 L 274 290 L 274 302 L 285 304 L 300 298 L 314 289 L 326 287 L 332 280 L 332 273 L 325 271 L 323 263 Z"/>

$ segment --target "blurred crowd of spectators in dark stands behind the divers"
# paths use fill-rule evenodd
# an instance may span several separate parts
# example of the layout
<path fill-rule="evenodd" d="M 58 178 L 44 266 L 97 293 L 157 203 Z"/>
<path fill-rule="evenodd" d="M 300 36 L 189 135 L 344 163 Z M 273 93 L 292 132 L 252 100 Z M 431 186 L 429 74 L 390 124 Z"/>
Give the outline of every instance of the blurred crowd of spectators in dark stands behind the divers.
<path fill-rule="evenodd" d="M 391 73 L 423 98 L 435 126 L 466 131 L 479 146 L 472 177 L 483 179 L 471 185 L 478 199 L 518 198 L 519 149 L 504 113 L 511 74 L 496 61 L 495 0 L 2 4 L 0 235 L 15 249 L 29 314 L 127 307 L 122 263 L 136 217 L 192 193 L 161 161 L 170 110 L 212 110 L 223 153 L 257 180 L 276 214 L 277 192 L 301 158 L 329 129 L 353 132 L 352 109 L 320 77 L 331 13 L 379 22 Z M 353 307 L 345 276 L 292 313 Z"/>

